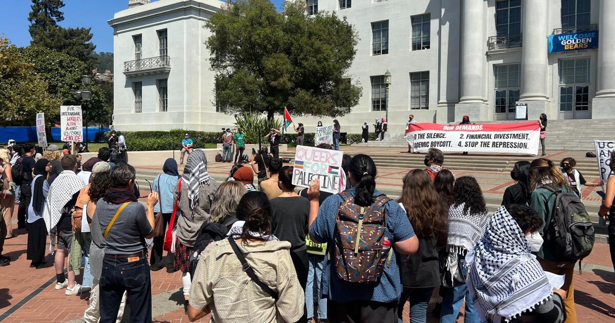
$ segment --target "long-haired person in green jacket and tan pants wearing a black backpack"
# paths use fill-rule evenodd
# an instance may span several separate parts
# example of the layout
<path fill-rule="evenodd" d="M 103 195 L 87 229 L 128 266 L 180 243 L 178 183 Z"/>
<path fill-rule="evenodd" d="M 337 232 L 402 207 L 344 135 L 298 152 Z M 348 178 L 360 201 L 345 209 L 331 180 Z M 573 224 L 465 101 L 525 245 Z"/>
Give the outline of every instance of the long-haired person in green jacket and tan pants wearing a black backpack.
<path fill-rule="evenodd" d="M 530 206 L 538 212 L 538 215 L 544 221 L 544 226 L 538 230 L 541 236 L 544 233 L 553 229 L 552 214 L 555 207 L 556 194 L 552 190 L 561 190 L 566 193 L 573 193 L 573 188 L 570 187 L 570 182 L 555 162 L 546 158 L 534 159 L 530 164 L 530 188 L 533 189 Z M 575 193 L 576 194 L 576 193 Z M 563 258 L 560 252 L 557 251 L 557 245 L 554 241 L 546 239 L 536 258 L 541 264 L 542 269 L 550 273 L 558 275 L 566 275 L 564 285 L 561 289 L 565 290 L 567 295 L 564 298 L 564 306 L 566 307 L 566 323 L 576 322 L 576 308 L 574 307 L 574 262 Z"/>

